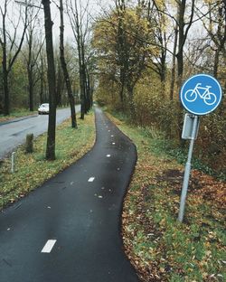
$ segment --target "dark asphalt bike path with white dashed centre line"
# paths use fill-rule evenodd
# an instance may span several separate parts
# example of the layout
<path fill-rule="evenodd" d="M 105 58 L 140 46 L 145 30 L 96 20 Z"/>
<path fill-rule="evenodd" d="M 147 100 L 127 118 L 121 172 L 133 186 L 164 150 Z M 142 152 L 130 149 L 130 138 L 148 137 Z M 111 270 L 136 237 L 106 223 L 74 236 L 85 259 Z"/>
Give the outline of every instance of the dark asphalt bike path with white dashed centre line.
<path fill-rule="evenodd" d="M 136 148 L 100 109 L 96 126 L 87 155 L 0 214 L 1 282 L 138 281 L 120 236 Z"/>

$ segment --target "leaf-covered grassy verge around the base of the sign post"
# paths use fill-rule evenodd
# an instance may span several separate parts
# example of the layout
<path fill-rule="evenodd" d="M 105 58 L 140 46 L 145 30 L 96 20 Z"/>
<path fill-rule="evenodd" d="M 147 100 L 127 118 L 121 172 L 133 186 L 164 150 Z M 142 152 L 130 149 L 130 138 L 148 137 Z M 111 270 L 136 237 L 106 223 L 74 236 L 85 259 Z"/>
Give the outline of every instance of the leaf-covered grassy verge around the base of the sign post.
<path fill-rule="evenodd" d="M 123 211 L 123 240 L 142 281 L 226 281 L 226 183 L 193 170 L 183 224 L 176 221 L 184 166 L 155 132 L 113 118 L 137 146 Z"/>

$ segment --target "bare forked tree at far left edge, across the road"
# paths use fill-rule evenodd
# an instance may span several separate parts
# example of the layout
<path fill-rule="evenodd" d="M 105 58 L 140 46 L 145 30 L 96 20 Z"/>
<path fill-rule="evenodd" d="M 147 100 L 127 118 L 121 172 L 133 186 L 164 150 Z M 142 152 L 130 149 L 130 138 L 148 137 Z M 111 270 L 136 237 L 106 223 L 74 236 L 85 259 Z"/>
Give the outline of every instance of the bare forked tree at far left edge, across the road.
<path fill-rule="evenodd" d="M 0 5 L 0 13 L 2 17 L 2 27 L 0 33 L 0 44 L 2 47 L 3 59 L 2 59 L 2 70 L 3 70 L 3 89 L 4 89 L 4 114 L 10 114 L 10 93 L 9 93 L 9 84 L 8 78 L 9 73 L 12 71 L 14 62 L 21 52 L 21 48 L 24 42 L 24 35 L 27 28 L 27 9 L 28 7 L 20 7 L 18 20 L 15 22 L 15 19 L 9 19 L 10 24 L 7 23 L 8 18 L 8 9 L 11 4 L 11 0 L 5 0 L 4 5 Z M 17 42 L 17 33 L 19 29 L 19 24 L 22 23 L 22 18 L 24 15 L 24 28 L 22 35 L 20 36 L 19 41 Z M 13 35 L 10 28 L 13 30 Z"/>

